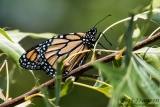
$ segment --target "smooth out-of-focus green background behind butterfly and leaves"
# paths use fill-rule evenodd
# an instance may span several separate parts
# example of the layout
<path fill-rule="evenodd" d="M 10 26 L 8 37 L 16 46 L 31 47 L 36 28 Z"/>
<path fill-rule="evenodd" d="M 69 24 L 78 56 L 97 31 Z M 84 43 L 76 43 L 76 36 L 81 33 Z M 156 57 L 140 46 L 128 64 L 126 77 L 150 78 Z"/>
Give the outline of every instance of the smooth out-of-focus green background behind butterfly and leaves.
<path fill-rule="evenodd" d="M 129 12 L 137 7 L 146 7 L 150 0 L 0 0 L 0 27 L 10 27 L 11 30 L 19 29 L 22 32 L 65 34 L 71 32 L 86 32 L 106 15 L 111 14 L 103 22 L 97 25 L 98 31 L 102 32 L 109 25 L 129 16 Z M 139 20 L 139 26 L 141 26 Z M 148 36 L 157 26 L 149 27 Z M 125 24 L 120 24 L 105 33 L 105 36 L 113 44 L 109 46 L 106 41 L 101 43 L 108 49 L 116 49 L 118 38 L 124 33 Z M 25 38 L 20 42 L 22 47 L 29 49 L 44 41 L 44 39 Z M 4 60 L 4 58 L 0 58 Z M 9 61 L 9 70 L 13 68 L 13 62 Z M 92 72 L 92 70 L 90 71 Z M 50 79 L 42 71 L 34 71 L 39 82 L 43 83 Z M 0 77 L 1 88 L 5 92 L 5 70 Z M 80 80 L 79 80 L 80 81 Z M 84 81 L 81 81 L 84 82 Z M 10 86 L 10 97 L 15 98 L 26 93 L 35 86 L 35 79 L 27 70 L 16 69 Z M 94 83 L 89 83 L 94 84 Z M 54 91 L 51 90 L 53 97 Z M 117 99 L 118 100 L 118 99 Z M 106 107 L 108 98 L 101 93 L 75 86 L 73 91 L 61 98 L 62 107 Z M 43 99 L 35 98 L 35 105 L 30 107 L 44 107 Z"/>

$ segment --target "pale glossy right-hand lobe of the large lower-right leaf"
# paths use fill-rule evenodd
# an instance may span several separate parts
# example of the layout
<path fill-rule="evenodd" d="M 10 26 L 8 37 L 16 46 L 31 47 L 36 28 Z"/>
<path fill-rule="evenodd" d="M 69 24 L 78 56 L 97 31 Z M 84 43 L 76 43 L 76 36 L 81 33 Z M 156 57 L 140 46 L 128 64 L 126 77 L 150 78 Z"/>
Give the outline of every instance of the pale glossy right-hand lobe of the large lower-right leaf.
<path fill-rule="evenodd" d="M 149 78 L 149 73 L 151 77 L 157 79 L 160 82 L 160 72 L 153 69 L 147 63 L 139 59 L 136 55 L 134 56 L 133 65 L 136 69 L 137 74 L 139 75 L 140 79 L 138 80 L 139 87 L 143 90 L 145 95 L 150 99 L 159 98 L 160 91 L 159 87 Z"/>

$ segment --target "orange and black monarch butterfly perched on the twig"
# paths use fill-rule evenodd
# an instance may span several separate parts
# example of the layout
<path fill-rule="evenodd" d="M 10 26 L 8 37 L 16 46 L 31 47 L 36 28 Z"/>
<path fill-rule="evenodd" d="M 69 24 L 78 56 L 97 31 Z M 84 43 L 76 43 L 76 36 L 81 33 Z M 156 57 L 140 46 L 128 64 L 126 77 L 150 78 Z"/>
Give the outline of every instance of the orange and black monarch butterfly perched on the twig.
<path fill-rule="evenodd" d="M 29 70 L 43 70 L 49 76 L 54 77 L 57 61 L 94 47 L 97 41 L 95 38 L 97 28 L 95 26 L 85 33 L 78 32 L 54 36 L 32 47 L 20 57 L 19 62 L 21 67 Z M 65 67 L 63 76 L 66 76 L 72 69 L 83 65 L 88 55 L 89 52 L 85 52 L 68 58 L 64 63 L 69 63 L 69 66 Z"/>

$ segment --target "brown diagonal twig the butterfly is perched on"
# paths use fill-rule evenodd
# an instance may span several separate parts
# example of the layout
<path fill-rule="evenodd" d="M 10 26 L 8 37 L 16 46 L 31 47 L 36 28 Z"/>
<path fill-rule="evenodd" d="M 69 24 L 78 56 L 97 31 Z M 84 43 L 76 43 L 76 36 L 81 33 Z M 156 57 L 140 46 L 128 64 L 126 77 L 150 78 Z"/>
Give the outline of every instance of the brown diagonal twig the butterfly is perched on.
<path fill-rule="evenodd" d="M 140 48 L 142 48 L 142 47 L 144 47 L 144 46 L 146 46 L 146 45 L 148 45 L 150 43 L 153 43 L 153 42 L 155 42 L 155 41 L 157 41 L 159 39 L 160 39 L 160 32 L 155 34 L 154 36 L 152 36 L 150 38 L 147 38 L 147 39 L 145 39 L 145 40 L 143 40 L 141 42 L 138 42 L 134 46 L 133 50 L 138 50 L 138 49 L 140 49 Z M 119 52 L 115 52 L 115 53 L 112 53 L 112 54 L 110 54 L 108 56 L 100 58 L 100 59 L 98 59 L 96 61 L 99 61 L 99 62 L 110 62 L 110 61 L 113 61 L 115 56 L 118 55 L 118 54 L 119 54 Z M 73 74 L 76 74 L 76 73 L 85 72 L 85 71 L 87 71 L 87 70 L 89 70 L 91 68 L 93 68 L 92 67 L 92 63 L 91 62 L 86 63 L 86 64 L 84 64 L 84 65 L 72 70 L 69 73 L 69 75 L 63 77 L 63 79 L 66 79 L 67 77 L 69 77 L 69 76 L 71 76 Z M 13 107 L 13 106 L 15 106 L 17 104 L 20 104 L 20 103 L 24 102 L 24 98 L 25 97 L 27 97 L 29 95 L 32 95 L 32 94 L 35 94 L 35 93 L 38 93 L 39 92 L 39 88 L 47 87 L 47 88 L 50 89 L 51 87 L 53 88 L 53 86 L 54 86 L 54 79 L 51 79 L 51 80 L 47 81 L 46 83 L 42 84 L 41 86 L 39 86 L 38 88 L 30 90 L 29 92 L 27 92 L 27 93 L 25 93 L 25 94 L 23 94 L 23 95 L 21 95 L 19 97 L 16 97 L 14 99 L 8 100 L 8 101 L 0 104 L 0 107 Z"/>

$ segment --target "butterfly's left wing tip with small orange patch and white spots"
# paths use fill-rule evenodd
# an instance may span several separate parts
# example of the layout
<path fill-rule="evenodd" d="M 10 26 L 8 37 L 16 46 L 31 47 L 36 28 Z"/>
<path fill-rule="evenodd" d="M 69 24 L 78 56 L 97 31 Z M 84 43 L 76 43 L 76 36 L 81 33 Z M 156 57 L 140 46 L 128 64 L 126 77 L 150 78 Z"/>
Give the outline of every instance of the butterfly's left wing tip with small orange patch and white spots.
<path fill-rule="evenodd" d="M 51 40 L 52 38 L 27 50 L 19 59 L 21 67 L 30 70 L 41 70 L 43 62 L 45 61 L 42 59 L 42 55 L 45 54 L 46 48 L 50 45 Z"/>

